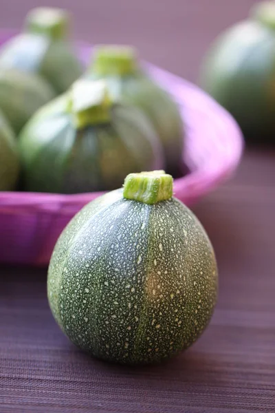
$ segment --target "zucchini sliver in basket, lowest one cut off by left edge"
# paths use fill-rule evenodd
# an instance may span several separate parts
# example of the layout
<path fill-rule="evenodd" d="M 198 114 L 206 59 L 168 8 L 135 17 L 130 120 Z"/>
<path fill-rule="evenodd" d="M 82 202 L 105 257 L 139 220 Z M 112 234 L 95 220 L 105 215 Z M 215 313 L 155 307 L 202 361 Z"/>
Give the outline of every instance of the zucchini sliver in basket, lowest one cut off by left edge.
<path fill-rule="evenodd" d="M 12 191 L 19 176 L 19 154 L 14 132 L 0 112 L 0 191 Z"/>

